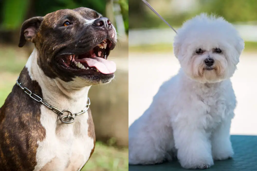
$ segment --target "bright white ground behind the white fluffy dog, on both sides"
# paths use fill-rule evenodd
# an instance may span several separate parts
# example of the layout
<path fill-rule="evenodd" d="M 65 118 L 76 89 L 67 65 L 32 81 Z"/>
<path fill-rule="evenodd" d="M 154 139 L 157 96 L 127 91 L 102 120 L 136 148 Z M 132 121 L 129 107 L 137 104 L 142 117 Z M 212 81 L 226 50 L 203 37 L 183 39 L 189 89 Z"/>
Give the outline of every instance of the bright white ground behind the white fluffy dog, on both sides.
<path fill-rule="evenodd" d="M 231 79 L 238 102 L 231 133 L 257 135 L 257 54 L 243 53 L 237 68 Z M 143 114 L 160 85 L 178 69 L 172 52 L 129 53 L 129 125 Z"/>

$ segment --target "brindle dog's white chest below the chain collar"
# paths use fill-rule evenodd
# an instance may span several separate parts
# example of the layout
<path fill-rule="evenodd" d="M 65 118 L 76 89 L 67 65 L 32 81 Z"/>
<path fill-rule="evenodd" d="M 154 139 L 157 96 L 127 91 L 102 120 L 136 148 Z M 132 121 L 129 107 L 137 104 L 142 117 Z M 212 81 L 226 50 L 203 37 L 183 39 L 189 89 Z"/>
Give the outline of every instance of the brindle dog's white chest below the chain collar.
<path fill-rule="evenodd" d="M 41 107 L 41 112 L 52 111 Z M 90 157 L 94 140 L 88 135 L 88 113 L 77 116 L 72 124 L 56 123 L 57 119 L 57 115 L 41 116 L 46 137 L 38 142 L 34 170 L 77 171 Z"/>

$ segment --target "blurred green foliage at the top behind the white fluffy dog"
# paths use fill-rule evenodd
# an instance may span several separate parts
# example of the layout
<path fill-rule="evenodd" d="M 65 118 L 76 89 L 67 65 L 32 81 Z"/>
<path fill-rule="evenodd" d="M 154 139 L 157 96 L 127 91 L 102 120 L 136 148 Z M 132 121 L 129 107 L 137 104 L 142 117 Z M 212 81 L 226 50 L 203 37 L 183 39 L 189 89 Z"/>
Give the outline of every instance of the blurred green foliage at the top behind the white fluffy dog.
<path fill-rule="evenodd" d="M 159 3 L 166 3 L 168 5 L 170 1 L 172 0 L 159 0 Z M 163 15 L 162 17 L 175 27 L 180 26 L 185 20 L 194 17 L 196 14 L 203 12 L 223 16 L 231 23 L 254 22 L 257 19 L 256 0 L 198 0 L 198 4 L 198 9 L 193 9 L 190 12 L 186 11 L 175 14 L 170 10 L 169 15 Z M 130 0 L 129 7 L 129 28 L 168 27 L 142 1 Z M 162 11 L 157 10 L 157 12 L 161 13 Z"/>

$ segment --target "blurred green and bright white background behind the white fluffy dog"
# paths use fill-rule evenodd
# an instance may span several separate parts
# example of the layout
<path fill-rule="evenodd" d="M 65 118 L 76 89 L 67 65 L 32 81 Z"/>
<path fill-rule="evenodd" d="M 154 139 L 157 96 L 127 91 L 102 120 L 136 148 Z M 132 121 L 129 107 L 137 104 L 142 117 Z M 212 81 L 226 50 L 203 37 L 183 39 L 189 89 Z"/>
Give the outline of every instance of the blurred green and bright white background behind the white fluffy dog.
<path fill-rule="evenodd" d="M 223 16 L 234 24 L 245 41 L 232 77 L 237 97 L 231 134 L 257 135 L 257 1 L 255 0 L 148 0 L 173 26 L 202 12 Z M 129 126 L 152 102 L 160 85 L 177 74 L 180 65 L 173 55 L 175 32 L 142 1 L 129 1 Z"/>

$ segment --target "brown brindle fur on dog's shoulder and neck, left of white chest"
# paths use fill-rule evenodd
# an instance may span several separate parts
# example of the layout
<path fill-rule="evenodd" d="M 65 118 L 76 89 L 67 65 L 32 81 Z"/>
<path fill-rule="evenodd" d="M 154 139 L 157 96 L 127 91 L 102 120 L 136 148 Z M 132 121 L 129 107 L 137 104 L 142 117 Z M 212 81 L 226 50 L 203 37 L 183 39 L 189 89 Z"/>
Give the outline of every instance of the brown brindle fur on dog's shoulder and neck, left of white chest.
<path fill-rule="evenodd" d="M 25 67 L 20 74 L 20 82 L 42 97 L 38 82 L 31 80 Z M 40 115 L 40 103 L 14 85 L 0 109 L 0 170 L 34 169 L 37 142 L 45 138 Z"/>

